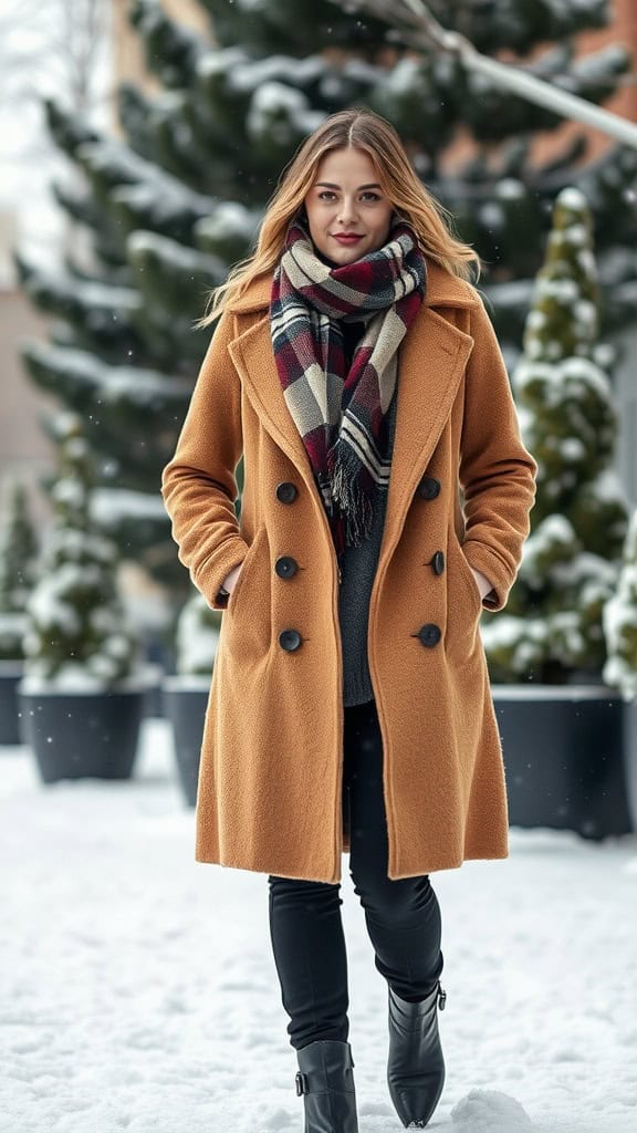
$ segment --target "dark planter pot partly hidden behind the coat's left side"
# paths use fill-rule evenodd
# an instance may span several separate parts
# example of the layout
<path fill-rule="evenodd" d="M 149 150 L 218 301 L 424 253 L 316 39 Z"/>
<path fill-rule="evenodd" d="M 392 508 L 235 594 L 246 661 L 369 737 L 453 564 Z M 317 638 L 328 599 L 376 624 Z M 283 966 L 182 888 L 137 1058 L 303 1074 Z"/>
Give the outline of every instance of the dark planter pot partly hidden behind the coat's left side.
<path fill-rule="evenodd" d="M 167 676 L 163 682 L 164 712 L 172 725 L 177 772 L 188 807 L 197 801 L 210 680 L 210 676 Z"/>

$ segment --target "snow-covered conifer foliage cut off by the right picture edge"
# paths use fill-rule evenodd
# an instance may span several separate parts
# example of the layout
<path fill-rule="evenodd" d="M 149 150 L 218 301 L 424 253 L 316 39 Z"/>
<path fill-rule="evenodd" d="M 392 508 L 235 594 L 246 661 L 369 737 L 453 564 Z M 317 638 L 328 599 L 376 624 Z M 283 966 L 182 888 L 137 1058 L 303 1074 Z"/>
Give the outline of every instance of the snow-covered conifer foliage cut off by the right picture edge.
<path fill-rule="evenodd" d="M 632 700 L 637 696 L 637 511 L 630 517 L 617 591 L 604 606 L 604 681 Z"/>

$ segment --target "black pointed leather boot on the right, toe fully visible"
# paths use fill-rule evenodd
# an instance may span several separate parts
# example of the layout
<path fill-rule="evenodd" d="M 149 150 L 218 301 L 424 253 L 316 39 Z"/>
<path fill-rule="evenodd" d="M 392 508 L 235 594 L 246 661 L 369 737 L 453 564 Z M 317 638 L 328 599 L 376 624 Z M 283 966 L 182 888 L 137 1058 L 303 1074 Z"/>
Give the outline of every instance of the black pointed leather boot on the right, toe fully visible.
<path fill-rule="evenodd" d="M 443 1011 L 447 993 L 438 980 L 426 999 L 409 1003 L 388 987 L 389 1092 L 405 1127 L 421 1130 L 432 1116 L 444 1085 L 436 1007 Z"/>

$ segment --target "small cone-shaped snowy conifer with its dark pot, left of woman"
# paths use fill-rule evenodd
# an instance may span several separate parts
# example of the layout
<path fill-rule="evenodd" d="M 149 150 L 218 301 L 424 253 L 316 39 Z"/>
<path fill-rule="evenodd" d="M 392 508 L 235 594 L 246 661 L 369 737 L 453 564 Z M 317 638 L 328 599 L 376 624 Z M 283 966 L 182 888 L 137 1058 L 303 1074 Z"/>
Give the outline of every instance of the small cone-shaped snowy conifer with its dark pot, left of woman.
<path fill-rule="evenodd" d="M 128 778 L 145 695 L 117 583 L 117 551 L 91 518 L 93 465 L 82 420 L 54 421 L 60 476 L 39 580 L 27 600 L 23 734 L 43 782 Z"/>

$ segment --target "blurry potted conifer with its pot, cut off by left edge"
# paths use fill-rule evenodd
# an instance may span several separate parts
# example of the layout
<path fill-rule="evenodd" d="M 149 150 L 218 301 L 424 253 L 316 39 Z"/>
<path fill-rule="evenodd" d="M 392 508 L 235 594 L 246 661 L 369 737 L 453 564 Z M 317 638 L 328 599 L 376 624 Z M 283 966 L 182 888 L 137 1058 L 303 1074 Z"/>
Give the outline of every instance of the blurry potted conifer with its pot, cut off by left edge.
<path fill-rule="evenodd" d="M 37 543 L 24 485 L 11 480 L 0 520 L 0 743 L 19 743 L 16 689 L 24 670 L 25 605 Z"/>

